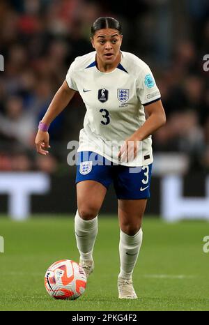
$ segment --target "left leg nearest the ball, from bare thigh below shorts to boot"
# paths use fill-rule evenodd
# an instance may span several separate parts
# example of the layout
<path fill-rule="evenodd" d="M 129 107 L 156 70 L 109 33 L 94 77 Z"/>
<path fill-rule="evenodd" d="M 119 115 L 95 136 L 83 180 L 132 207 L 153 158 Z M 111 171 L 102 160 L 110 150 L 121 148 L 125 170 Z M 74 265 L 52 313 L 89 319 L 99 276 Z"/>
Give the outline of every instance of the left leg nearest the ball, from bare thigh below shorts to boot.
<path fill-rule="evenodd" d="M 80 264 L 87 276 L 93 271 L 94 267 L 93 246 L 98 234 L 98 213 L 106 192 L 107 188 L 97 181 L 77 183 L 75 237 L 80 253 Z"/>

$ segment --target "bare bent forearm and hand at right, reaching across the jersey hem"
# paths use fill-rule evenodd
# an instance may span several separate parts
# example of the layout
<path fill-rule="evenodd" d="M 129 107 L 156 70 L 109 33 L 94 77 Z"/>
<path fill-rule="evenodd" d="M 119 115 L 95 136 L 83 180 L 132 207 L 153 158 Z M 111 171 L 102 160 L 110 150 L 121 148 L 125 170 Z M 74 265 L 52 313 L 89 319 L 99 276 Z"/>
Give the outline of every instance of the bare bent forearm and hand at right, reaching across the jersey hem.
<path fill-rule="evenodd" d="M 149 135 L 152 135 L 156 130 L 164 126 L 166 123 L 166 114 L 164 112 L 161 100 L 157 100 L 154 103 L 146 105 L 144 109 L 148 118 L 146 119 L 143 126 L 136 130 L 131 137 L 125 140 L 125 143 L 123 146 L 121 146 L 121 150 L 118 153 L 119 159 L 123 155 L 123 152 L 126 151 L 128 155 L 129 151 L 133 150 L 133 146 L 129 146 L 129 143 L 134 144 L 135 158 L 137 156 L 137 142 L 146 139 Z"/>

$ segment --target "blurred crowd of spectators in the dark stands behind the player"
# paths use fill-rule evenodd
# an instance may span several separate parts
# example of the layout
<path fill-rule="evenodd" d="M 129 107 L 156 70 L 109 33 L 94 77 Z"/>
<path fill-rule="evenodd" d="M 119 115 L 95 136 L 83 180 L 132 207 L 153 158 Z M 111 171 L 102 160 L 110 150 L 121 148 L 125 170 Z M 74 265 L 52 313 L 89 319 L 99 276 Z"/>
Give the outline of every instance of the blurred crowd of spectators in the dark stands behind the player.
<path fill-rule="evenodd" d="M 67 170 L 67 144 L 78 139 L 85 107 L 77 94 L 50 126 L 51 153 L 38 156 L 38 121 L 76 56 L 91 52 L 91 24 L 112 16 L 122 50 L 153 70 L 167 124 L 153 149 L 187 153 L 190 169 L 209 169 L 208 0 L 0 0 L 0 170 Z M 209 63 L 208 63 L 209 68 Z"/>

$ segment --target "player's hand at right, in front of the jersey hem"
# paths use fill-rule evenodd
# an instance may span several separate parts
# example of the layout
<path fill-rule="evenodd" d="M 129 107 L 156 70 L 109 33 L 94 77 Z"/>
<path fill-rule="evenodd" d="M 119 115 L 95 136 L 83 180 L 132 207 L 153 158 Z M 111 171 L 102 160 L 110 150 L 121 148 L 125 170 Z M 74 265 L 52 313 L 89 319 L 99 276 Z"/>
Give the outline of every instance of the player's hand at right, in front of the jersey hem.
<path fill-rule="evenodd" d="M 137 137 L 128 138 L 122 144 L 120 151 L 118 152 L 119 162 L 130 162 L 137 157 L 137 152 L 139 150 L 139 139 Z"/>

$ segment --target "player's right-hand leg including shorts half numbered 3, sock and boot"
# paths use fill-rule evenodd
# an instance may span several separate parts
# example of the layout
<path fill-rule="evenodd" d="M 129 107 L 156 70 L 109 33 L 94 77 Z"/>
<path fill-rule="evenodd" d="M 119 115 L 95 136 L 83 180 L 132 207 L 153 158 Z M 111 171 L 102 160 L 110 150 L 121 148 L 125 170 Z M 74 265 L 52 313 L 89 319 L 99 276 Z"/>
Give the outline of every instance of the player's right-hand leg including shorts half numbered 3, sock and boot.
<path fill-rule="evenodd" d="M 121 270 L 118 275 L 119 298 L 137 298 L 132 286 L 132 273 L 142 242 L 141 221 L 150 197 L 152 165 L 129 169 L 121 166 L 114 180 L 118 197 L 120 223 L 119 253 Z"/>

